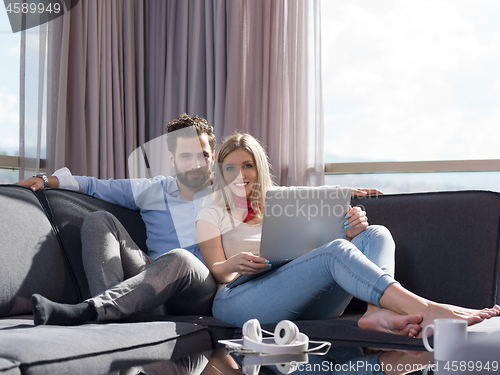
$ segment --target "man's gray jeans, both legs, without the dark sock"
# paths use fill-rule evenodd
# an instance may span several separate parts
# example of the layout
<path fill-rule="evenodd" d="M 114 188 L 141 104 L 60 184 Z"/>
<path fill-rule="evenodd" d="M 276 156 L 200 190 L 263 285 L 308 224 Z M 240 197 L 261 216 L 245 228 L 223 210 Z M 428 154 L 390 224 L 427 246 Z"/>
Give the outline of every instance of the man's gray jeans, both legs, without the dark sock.
<path fill-rule="evenodd" d="M 184 249 L 152 260 L 115 216 L 89 214 L 82 258 L 98 321 L 114 321 L 163 305 L 171 315 L 211 315 L 216 283 L 208 268 Z"/>

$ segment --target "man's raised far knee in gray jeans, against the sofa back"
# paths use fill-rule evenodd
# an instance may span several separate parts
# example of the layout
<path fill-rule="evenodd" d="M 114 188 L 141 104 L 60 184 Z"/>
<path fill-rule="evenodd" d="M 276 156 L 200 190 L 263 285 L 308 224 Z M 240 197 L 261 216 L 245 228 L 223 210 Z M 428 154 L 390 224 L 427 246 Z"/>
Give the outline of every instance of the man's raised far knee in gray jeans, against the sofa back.
<path fill-rule="evenodd" d="M 87 215 L 81 239 L 83 267 L 92 296 L 139 274 L 152 261 L 107 211 Z"/>

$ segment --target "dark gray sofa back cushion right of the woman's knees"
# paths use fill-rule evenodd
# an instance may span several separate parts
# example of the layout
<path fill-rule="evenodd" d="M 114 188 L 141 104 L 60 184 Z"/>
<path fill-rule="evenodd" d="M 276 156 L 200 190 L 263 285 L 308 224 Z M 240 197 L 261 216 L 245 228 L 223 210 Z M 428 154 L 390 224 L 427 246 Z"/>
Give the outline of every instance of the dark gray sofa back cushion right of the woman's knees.
<path fill-rule="evenodd" d="M 470 308 L 499 299 L 500 194 L 456 191 L 353 199 L 396 242 L 396 280 L 425 298 Z"/>

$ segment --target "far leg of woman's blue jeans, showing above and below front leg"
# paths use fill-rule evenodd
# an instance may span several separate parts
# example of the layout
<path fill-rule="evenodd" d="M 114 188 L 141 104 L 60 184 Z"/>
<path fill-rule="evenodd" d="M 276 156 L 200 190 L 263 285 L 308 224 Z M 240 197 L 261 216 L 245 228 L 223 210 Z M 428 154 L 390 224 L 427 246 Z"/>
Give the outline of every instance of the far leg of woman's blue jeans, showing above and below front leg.
<path fill-rule="evenodd" d="M 389 230 L 380 225 L 370 225 L 352 241 L 371 262 L 394 277 L 395 244 Z M 334 319 L 341 316 L 352 299 L 341 286 L 335 285 L 307 308 L 298 319 Z M 373 305 L 374 306 L 374 305 Z"/>

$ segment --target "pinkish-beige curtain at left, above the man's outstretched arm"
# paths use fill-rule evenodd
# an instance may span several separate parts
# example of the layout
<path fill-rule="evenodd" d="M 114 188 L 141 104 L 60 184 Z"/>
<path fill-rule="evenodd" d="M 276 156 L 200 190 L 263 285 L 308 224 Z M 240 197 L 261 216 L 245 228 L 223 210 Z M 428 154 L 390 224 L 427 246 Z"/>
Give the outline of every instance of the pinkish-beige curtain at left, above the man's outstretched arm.
<path fill-rule="evenodd" d="M 125 178 L 145 141 L 144 4 L 82 0 L 49 24 L 47 170 Z"/>

